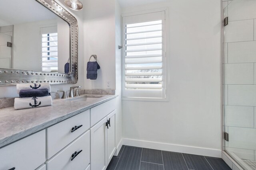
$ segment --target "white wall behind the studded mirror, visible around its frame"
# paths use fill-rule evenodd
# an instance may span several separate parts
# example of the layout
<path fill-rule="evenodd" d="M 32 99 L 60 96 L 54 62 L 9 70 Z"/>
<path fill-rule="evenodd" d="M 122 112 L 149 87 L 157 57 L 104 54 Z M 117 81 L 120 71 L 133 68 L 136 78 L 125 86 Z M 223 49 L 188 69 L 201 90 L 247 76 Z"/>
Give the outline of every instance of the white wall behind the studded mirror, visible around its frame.
<path fill-rule="evenodd" d="M 80 11 L 69 10 L 64 5 L 64 0 L 56 0 L 62 4 L 62 6 L 68 10 L 76 19 L 78 20 L 78 82 L 76 84 L 61 84 L 61 85 L 52 85 L 52 92 L 57 92 L 57 90 L 69 90 L 70 86 L 82 86 L 84 88 L 84 9 Z M 83 0 L 81 0 L 82 3 Z M 18 97 L 16 93 L 16 86 L 0 86 L 0 98 L 12 98 Z"/>

